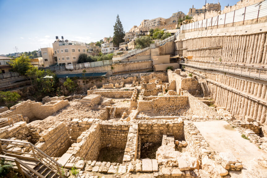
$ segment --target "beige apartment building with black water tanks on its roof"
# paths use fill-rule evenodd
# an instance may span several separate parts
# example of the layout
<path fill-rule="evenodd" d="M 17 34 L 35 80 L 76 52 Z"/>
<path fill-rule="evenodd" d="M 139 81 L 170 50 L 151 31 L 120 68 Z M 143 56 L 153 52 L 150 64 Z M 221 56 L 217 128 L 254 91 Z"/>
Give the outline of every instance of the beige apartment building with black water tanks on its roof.
<path fill-rule="evenodd" d="M 81 53 L 87 53 L 86 44 L 83 42 L 61 40 L 56 36 L 53 43 L 54 57 L 59 66 L 77 64 L 78 57 Z"/>

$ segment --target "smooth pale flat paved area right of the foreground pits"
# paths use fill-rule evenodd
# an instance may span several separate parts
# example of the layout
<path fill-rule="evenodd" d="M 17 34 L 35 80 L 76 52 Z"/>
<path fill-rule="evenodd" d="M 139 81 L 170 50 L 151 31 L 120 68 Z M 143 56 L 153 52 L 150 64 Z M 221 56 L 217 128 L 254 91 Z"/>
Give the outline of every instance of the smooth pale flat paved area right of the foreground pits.
<path fill-rule="evenodd" d="M 261 154 L 266 155 L 266 153 L 249 140 L 242 138 L 241 134 L 226 121 L 193 123 L 216 154 L 231 152 L 239 161 L 242 161 L 244 167 L 242 173 L 231 172 L 232 177 L 267 177 L 267 169 L 259 166 L 253 160 L 261 157 Z"/>

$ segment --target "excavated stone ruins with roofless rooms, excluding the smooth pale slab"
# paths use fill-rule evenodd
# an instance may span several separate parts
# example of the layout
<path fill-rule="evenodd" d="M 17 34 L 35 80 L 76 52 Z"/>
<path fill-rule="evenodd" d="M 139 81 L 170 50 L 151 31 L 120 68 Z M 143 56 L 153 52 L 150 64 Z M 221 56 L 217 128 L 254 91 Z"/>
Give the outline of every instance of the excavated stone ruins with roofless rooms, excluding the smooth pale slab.
<path fill-rule="evenodd" d="M 201 102 L 194 96 L 197 80 L 186 73 L 168 70 L 129 78 L 112 78 L 115 87 L 113 83 L 92 87 L 87 96 L 17 104 L 0 118 L 21 114 L 25 120 L 1 128 L 0 137 L 31 142 L 60 163 L 65 176 L 72 176 L 74 167 L 83 178 L 208 178 L 241 172 L 242 161 L 232 153 L 215 152 L 195 125 L 199 121 L 227 121 L 267 151 L 261 124 L 249 117 L 235 120 L 225 108 Z M 259 155 L 257 161 L 267 165 L 265 156 Z"/>

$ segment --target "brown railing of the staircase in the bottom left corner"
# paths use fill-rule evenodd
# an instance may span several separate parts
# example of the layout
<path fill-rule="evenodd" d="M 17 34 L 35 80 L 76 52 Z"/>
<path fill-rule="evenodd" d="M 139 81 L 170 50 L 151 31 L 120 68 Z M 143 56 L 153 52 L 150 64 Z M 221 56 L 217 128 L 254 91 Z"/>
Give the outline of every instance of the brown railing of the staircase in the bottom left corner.
<path fill-rule="evenodd" d="M 21 151 L 5 150 L 2 147 L 3 144 L 15 145 L 15 146 L 20 146 L 20 147 L 28 147 L 31 149 L 31 151 L 27 153 L 27 152 L 21 152 Z M 2 154 L 4 153 L 6 156 L 17 158 L 17 161 L 18 159 L 31 159 L 32 158 L 33 160 L 36 160 L 37 162 L 41 162 L 45 166 L 49 167 L 49 169 L 55 174 L 57 174 L 57 176 L 60 176 L 61 178 L 63 178 L 63 176 L 61 175 L 62 165 L 57 163 L 54 159 L 52 159 L 50 156 L 45 154 L 42 150 L 40 150 L 39 148 L 37 148 L 35 145 L 33 145 L 30 142 L 0 139 L 0 152 L 2 152 Z M 44 178 L 44 176 L 42 176 L 40 173 L 36 172 L 30 167 L 27 167 L 26 163 L 23 163 L 22 161 L 20 161 L 20 164 L 22 164 L 23 167 L 27 168 L 27 170 L 25 170 L 27 171 L 27 173 L 30 173 L 30 174 L 34 173 L 37 175 L 34 177 Z M 19 172 L 22 172 L 22 170 L 20 170 Z"/>

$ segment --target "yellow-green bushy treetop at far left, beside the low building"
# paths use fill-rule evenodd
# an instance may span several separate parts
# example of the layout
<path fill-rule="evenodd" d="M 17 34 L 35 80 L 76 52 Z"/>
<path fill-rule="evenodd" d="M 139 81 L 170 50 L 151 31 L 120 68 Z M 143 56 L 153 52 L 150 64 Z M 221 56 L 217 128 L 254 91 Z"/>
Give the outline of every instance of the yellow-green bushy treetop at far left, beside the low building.
<path fill-rule="evenodd" d="M 28 56 L 20 56 L 16 59 L 11 59 L 10 65 L 14 71 L 18 72 L 21 75 L 25 75 L 27 70 L 32 68 L 31 60 Z"/>

